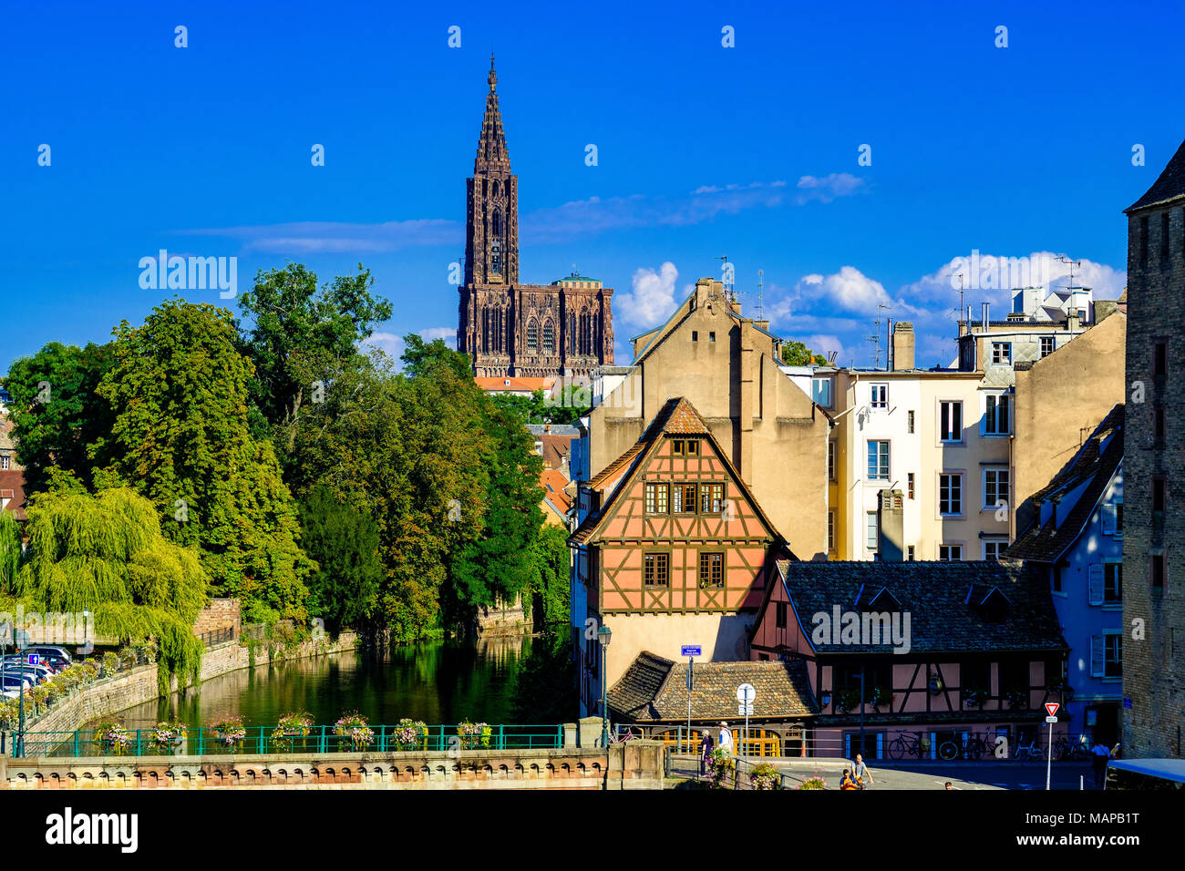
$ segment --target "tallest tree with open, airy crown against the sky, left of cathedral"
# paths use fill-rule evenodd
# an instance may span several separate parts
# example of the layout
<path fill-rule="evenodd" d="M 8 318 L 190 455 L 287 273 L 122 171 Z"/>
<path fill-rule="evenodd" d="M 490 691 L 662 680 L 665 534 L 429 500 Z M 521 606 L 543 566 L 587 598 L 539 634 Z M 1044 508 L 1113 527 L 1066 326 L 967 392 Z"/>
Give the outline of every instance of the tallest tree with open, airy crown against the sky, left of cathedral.
<path fill-rule="evenodd" d="M 316 402 L 314 384 L 328 382 L 334 365 L 357 353 L 358 342 L 391 316 L 391 303 L 371 294 L 374 278 L 358 264 L 318 289 L 316 274 L 301 263 L 260 271 L 239 296 L 251 320 L 244 346 L 255 364 L 251 392 L 275 429 L 284 455 L 292 450 L 301 411 Z"/>

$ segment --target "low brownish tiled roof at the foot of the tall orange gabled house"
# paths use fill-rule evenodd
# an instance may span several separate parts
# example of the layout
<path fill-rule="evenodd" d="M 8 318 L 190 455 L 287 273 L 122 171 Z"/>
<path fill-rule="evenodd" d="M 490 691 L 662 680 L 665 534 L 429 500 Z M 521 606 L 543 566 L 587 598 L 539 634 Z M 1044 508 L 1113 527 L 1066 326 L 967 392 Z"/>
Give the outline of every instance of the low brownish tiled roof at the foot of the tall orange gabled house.
<path fill-rule="evenodd" d="M 693 721 L 737 719 L 736 691 L 752 684 L 757 691 L 752 718 L 806 717 L 819 712 L 807 681 L 806 662 L 697 662 L 691 693 Z M 687 664 L 642 651 L 609 690 L 615 716 L 635 723 L 680 722 L 687 718 Z"/>

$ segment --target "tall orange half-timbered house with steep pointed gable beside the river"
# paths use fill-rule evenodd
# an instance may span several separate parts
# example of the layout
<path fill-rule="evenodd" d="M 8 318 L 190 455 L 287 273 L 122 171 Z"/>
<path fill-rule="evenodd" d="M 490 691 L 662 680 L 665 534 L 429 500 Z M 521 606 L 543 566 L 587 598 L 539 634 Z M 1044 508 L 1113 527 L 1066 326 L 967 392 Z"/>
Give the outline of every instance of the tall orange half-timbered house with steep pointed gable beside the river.
<path fill-rule="evenodd" d="M 642 651 L 677 659 L 699 645 L 705 659 L 749 659 L 770 555 L 786 551 L 687 399 L 668 399 L 578 498 L 574 609 L 613 632 L 603 664 L 595 628 L 583 635 L 585 712 L 598 710 L 602 665 L 613 685 Z"/>

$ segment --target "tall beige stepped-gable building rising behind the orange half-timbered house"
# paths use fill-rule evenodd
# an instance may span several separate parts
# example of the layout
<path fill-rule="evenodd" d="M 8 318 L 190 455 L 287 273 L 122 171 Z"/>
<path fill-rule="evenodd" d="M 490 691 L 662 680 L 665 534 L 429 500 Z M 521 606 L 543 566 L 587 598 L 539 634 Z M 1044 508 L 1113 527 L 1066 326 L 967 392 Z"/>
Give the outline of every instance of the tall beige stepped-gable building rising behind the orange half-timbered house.
<path fill-rule="evenodd" d="M 700 278 L 666 324 L 633 340 L 633 365 L 600 380 L 574 478 L 595 478 L 670 397 L 686 397 L 790 550 L 826 559 L 830 420 L 779 369 L 781 340 L 768 327 Z"/>

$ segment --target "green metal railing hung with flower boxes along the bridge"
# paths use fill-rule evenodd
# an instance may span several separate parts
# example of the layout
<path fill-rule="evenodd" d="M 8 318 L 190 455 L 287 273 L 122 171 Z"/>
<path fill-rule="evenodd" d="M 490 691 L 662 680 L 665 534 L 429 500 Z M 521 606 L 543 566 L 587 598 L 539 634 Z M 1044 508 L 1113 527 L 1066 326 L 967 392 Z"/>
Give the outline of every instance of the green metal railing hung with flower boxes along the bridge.
<path fill-rule="evenodd" d="M 244 726 L 245 735 L 228 741 L 209 726 L 186 729 L 181 738 L 161 744 L 155 729 L 128 729 L 128 741 L 115 744 L 94 730 L 25 732 L 25 756 L 205 756 L 213 754 L 327 754 L 448 750 L 558 749 L 563 725 L 491 724 L 481 735 L 459 735 L 456 724 L 424 726 L 411 743 L 401 742 L 398 726 L 372 725 L 370 741 L 339 735 L 337 726 L 308 726 L 307 734 L 281 734 L 277 726 Z"/>

